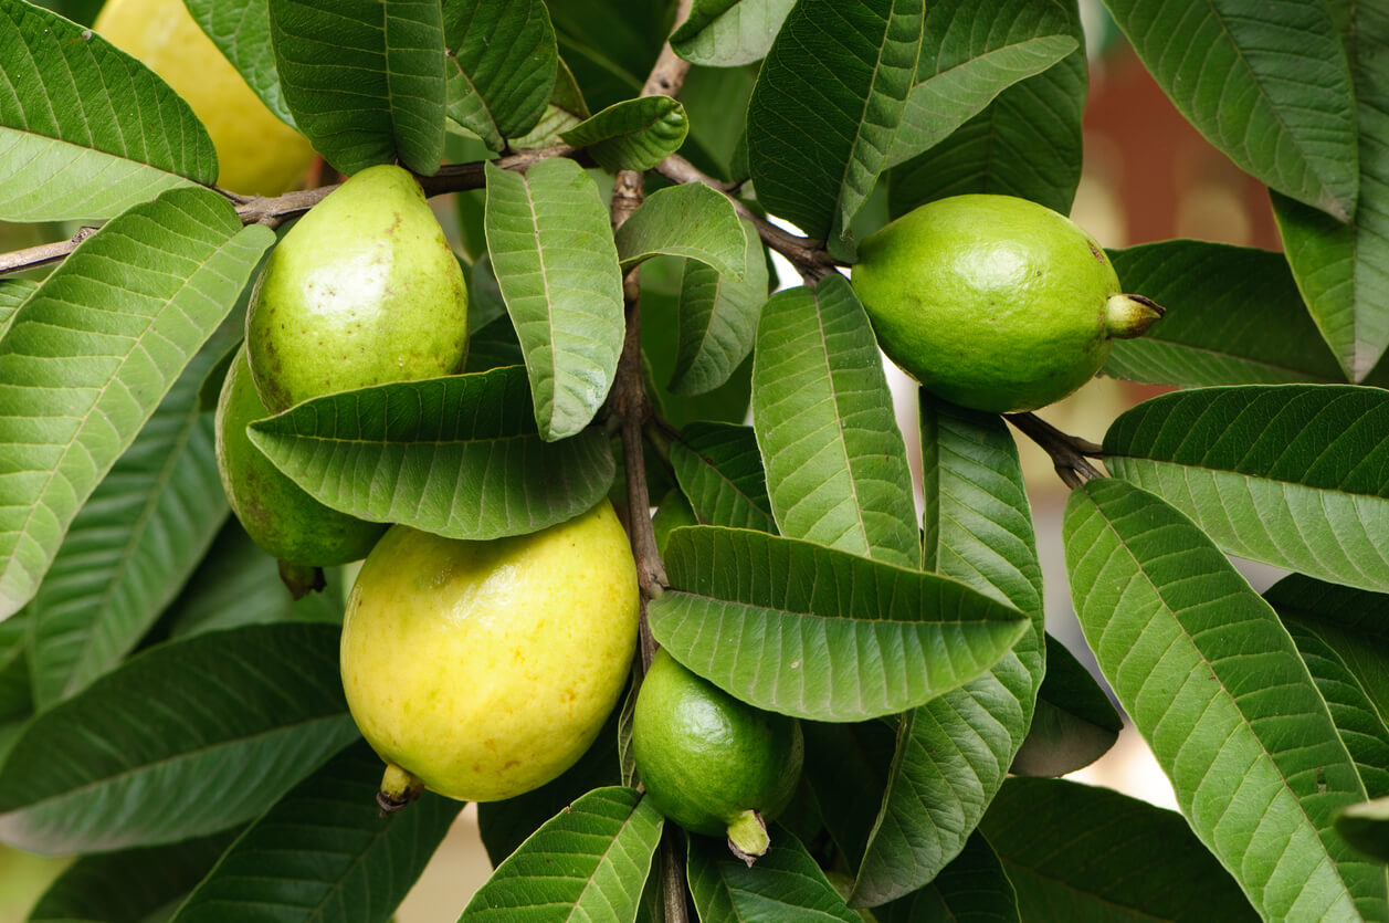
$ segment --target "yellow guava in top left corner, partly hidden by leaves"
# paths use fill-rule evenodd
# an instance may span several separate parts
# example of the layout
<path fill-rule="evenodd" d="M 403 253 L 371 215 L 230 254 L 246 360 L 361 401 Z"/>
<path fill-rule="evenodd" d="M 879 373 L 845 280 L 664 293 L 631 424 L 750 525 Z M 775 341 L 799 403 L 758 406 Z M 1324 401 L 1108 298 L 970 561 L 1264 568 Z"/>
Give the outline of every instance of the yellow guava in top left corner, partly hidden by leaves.
<path fill-rule="evenodd" d="M 260 196 L 299 185 L 314 160 L 308 139 L 265 108 L 183 0 L 107 0 L 92 28 L 193 107 L 217 147 L 217 185 Z"/>

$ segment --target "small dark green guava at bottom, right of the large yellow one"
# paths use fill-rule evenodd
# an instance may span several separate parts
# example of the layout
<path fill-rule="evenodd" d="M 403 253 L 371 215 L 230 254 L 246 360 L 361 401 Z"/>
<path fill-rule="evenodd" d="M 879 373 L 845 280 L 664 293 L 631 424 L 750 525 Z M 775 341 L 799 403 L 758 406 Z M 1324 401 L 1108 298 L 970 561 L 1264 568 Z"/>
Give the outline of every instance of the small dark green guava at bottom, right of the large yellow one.
<path fill-rule="evenodd" d="M 646 797 L 692 833 L 728 837 L 749 865 L 767 852 L 765 820 L 800 781 L 800 723 L 742 702 L 664 649 L 642 680 L 632 756 Z"/>

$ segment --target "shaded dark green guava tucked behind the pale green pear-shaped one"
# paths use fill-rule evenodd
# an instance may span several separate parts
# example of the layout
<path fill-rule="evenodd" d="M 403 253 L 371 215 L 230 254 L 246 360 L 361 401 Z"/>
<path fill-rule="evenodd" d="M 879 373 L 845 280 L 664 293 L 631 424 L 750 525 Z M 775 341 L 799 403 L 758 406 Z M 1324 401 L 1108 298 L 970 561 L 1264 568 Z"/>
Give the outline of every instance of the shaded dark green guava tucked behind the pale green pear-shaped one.
<path fill-rule="evenodd" d="M 217 471 L 246 534 L 290 564 L 331 567 L 365 557 L 386 527 L 324 506 L 285 477 L 246 435 L 246 424 L 268 416 L 243 346 L 222 381 L 215 432 Z"/>

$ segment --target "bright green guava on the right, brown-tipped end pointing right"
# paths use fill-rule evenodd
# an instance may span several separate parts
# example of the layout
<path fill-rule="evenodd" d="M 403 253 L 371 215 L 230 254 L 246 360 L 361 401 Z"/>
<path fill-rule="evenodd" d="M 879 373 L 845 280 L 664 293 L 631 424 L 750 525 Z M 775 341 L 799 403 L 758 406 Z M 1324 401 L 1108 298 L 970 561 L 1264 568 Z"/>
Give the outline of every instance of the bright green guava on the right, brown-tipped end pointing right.
<path fill-rule="evenodd" d="M 1125 295 L 1108 257 L 1026 199 L 924 204 L 870 235 L 851 281 L 878 345 L 953 403 L 1010 413 L 1060 400 L 1163 309 Z"/>

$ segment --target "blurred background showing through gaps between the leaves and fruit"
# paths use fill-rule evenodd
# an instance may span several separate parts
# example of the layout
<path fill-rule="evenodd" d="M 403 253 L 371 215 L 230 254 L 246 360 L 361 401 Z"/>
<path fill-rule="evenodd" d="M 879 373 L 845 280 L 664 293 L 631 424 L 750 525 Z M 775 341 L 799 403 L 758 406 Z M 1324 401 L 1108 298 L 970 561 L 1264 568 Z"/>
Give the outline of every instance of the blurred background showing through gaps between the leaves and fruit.
<path fill-rule="evenodd" d="M 42 6 L 90 24 L 101 0 L 51 0 Z M 1281 249 L 1265 188 L 1233 167 L 1176 113 L 1138 63 L 1099 0 L 1081 0 L 1081 8 L 1090 56 L 1090 93 L 1083 122 L 1085 165 L 1071 217 L 1106 247 L 1197 238 Z M 440 207 L 444 227 L 458 227 L 458 217 L 446 214 L 447 209 L 447 204 Z M 0 224 L 3 250 L 49 239 L 57 239 L 57 235 L 46 234 L 43 228 Z M 785 261 L 778 270 L 783 284 L 795 284 L 796 274 Z M 917 424 L 915 385 L 890 363 L 886 366 L 903 432 L 913 434 Z M 1097 378 L 1067 400 L 1039 411 L 1039 416 L 1065 432 L 1099 442 L 1115 416 L 1161 391 Z M 1040 449 L 1021 435 L 1018 443 L 1046 580 L 1047 627 L 1096 671 L 1071 609 L 1065 581 L 1060 534 L 1067 488 Z M 921 462 L 915 439 L 908 438 L 907 445 L 920 484 Z M 1260 591 L 1281 575 L 1260 564 L 1236 563 Z M 1171 787 L 1132 727 L 1125 727 L 1118 744 L 1103 759 L 1072 778 L 1175 808 Z M 31 856 L 0 847 L 0 923 L 24 920 L 29 906 L 64 866 L 61 859 Z M 490 866 L 478 838 L 476 810 L 468 806 L 396 919 L 399 923 L 456 920 L 489 873 Z"/>

